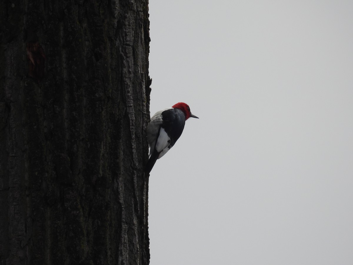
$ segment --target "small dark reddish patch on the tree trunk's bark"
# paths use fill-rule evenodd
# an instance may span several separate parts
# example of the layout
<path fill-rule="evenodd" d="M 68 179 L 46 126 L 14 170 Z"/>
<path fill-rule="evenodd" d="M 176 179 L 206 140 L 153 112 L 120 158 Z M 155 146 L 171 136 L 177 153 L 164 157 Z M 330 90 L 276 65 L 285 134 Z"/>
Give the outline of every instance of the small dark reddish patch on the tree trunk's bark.
<path fill-rule="evenodd" d="M 28 59 L 28 75 L 37 81 L 44 77 L 45 54 L 38 41 L 30 41 L 26 45 Z"/>

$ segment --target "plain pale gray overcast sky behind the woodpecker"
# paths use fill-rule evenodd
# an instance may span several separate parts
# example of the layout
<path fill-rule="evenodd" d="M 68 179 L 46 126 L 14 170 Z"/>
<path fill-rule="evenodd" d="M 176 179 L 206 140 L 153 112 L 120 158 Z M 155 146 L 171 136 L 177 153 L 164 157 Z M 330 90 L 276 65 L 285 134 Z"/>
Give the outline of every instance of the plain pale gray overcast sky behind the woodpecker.
<path fill-rule="evenodd" d="M 151 265 L 353 264 L 353 2 L 150 0 Z"/>

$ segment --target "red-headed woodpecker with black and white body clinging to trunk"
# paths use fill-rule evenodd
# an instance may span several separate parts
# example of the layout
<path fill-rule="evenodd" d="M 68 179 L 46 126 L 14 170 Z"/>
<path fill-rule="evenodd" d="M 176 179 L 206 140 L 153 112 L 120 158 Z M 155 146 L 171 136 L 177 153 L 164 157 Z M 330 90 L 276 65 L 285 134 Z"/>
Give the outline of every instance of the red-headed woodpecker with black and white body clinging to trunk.
<path fill-rule="evenodd" d="M 191 114 L 189 105 L 179 102 L 171 108 L 158 111 L 147 125 L 147 140 L 150 145 L 150 158 L 145 172 L 149 173 L 157 159 L 163 157 L 183 133 L 185 120 L 197 118 Z"/>

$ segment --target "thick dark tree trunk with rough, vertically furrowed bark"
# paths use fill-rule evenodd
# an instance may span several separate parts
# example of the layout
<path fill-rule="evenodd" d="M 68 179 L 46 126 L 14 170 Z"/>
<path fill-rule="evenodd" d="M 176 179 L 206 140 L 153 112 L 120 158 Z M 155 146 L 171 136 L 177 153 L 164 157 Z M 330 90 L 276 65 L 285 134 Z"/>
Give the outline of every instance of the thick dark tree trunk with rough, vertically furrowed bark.
<path fill-rule="evenodd" d="M 149 264 L 148 0 L 0 13 L 0 264 Z"/>

